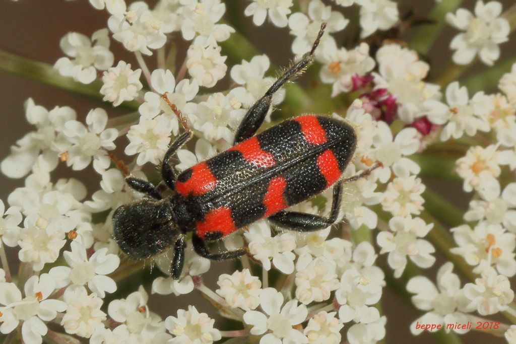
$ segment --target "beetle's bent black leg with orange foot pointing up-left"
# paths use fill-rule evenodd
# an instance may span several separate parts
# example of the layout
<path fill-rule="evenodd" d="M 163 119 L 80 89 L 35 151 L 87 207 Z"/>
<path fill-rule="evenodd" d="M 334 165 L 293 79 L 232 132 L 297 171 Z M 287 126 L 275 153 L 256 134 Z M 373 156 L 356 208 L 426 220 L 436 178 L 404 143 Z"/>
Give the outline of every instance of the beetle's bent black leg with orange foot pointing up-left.
<path fill-rule="evenodd" d="M 167 153 L 165 153 L 165 157 L 163 158 L 162 162 L 162 179 L 165 182 L 165 184 L 169 187 L 170 190 L 174 190 L 174 182 L 176 178 L 176 174 L 172 166 L 170 165 L 170 158 L 175 154 L 178 149 L 183 146 L 188 140 L 190 140 L 193 136 L 193 133 L 188 126 L 188 122 L 186 121 L 186 118 L 184 118 L 183 113 L 178 109 L 175 104 L 170 103 L 168 100 L 167 93 L 162 94 L 162 98 L 167 103 L 167 105 L 170 107 L 172 112 L 175 113 L 175 116 L 178 117 L 179 122 L 181 123 L 181 126 L 185 130 L 183 134 L 178 136 L 174 142 L 170 145 L 170 147 L 167 150 Z"/>

